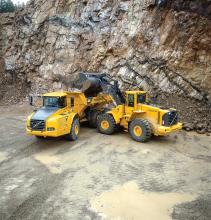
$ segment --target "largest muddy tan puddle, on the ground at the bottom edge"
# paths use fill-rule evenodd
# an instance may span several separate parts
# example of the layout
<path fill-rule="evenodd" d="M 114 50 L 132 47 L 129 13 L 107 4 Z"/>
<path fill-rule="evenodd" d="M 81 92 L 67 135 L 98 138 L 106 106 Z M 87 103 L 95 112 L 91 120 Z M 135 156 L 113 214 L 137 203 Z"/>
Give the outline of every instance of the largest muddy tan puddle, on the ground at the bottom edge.
<path fill-rule="evenodd" d="M 190 202 L 196 195 L 155 193 L 139 189 L 136 182 L 128 182 L 103 192 L 91 200 L 92 211 L 108 220 L 171 220 L 176 204 Z"/>

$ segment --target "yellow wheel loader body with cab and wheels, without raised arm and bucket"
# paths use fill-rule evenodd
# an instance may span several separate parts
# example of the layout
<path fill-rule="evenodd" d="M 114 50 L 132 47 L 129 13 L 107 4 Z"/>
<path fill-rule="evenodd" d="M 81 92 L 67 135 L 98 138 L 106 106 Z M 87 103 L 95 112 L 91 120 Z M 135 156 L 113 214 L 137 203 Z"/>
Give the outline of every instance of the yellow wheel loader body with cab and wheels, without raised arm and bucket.
<path fill-rule="evenodd" d="M 127 91 L 126 101 L 97 119 L 98 131 L 113 134 L 119 127 L 127 130 L 133 140 L 148 141 L 152 135 L 165 136 L 182 129 L 175 109 L 161 109 L 148 104 L 143 91 Z"/>

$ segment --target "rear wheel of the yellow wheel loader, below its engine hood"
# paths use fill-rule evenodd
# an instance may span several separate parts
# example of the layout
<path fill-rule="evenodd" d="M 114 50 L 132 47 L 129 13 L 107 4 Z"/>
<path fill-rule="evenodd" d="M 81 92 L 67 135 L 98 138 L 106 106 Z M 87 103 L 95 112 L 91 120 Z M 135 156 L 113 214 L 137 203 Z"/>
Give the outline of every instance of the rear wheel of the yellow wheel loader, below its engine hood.
<path fill-rule="evenodd" d="M 152 136 L 152 126 L 145 119 L 134 119 L 129 124 L 129 133 L 133 140 L 147 142 Z"/>

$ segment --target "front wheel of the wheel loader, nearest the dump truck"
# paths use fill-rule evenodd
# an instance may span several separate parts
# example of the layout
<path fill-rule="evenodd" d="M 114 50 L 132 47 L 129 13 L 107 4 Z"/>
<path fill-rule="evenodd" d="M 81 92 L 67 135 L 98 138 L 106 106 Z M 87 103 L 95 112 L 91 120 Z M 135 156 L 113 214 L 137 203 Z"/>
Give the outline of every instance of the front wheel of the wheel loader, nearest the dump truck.
<path fill-rule="evenodd" d="M 99 115 L 97 118 L 97 129 L 102 134 L 113 134 L 116 130 L 114 118 L 107 113 Z"/>

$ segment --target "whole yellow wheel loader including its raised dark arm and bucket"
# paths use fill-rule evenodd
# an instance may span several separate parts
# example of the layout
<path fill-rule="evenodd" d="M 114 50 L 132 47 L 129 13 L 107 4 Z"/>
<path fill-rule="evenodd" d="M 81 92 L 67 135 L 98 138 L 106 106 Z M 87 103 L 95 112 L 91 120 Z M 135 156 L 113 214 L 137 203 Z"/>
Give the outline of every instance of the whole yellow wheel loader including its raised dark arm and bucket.
<path fill-rule="evenodd" d="M 106 74 L 86 74 L 83 80 L 82 89 L 93 87 L 95 92 L 109 95 L 113 100 L 110 109 L 105 108 L 97 115 L 100 133 L 111 135 L 123 128 L 133 140 L 146 142 L 152 135 L 165 136 L 182 129 L 176 109 L 162 109 L 149 104 L 145 91 L 126 91 L 124 96 L 118 81 Z"/>

